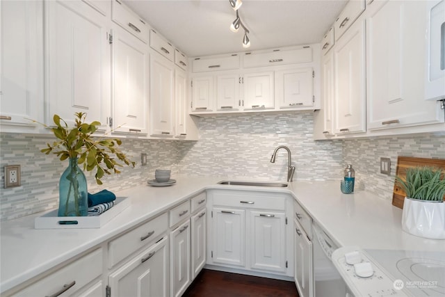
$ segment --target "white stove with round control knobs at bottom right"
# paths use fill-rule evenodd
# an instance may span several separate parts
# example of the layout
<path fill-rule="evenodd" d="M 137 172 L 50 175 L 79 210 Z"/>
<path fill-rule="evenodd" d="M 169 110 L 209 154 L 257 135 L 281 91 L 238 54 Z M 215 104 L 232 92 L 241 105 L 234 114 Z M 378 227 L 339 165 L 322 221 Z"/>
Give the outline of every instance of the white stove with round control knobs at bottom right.
<path fill-rule="evenodd" d="M 332 262 L 353 296 L 445 296 L 445 251 L 343 247 Z"/>

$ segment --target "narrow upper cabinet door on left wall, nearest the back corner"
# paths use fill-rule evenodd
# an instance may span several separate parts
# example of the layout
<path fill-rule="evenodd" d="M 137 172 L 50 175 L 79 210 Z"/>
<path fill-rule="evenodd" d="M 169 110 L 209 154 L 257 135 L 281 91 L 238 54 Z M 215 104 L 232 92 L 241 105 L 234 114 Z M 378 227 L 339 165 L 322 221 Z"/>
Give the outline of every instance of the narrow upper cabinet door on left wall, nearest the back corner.
<path fill-rule="evenodd" d="M 187 100 L 187 74 L 175 69 L 175 137 L 184 138 L 187 136 L 187 117 L 188 115 Z"/>

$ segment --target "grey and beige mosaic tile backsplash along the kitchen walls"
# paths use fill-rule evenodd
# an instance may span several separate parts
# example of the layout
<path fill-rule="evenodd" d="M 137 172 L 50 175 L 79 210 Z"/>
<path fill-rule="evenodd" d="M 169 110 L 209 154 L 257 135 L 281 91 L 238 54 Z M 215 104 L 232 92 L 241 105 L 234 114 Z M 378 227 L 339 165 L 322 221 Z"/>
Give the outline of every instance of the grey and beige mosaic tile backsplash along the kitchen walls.
<path fill-rule="evenodd" d="M 218 115 L 201 118 L 199 141 L 154 141 L 125 138 L 122 150 L 138 161 L 120 175 L 95 184 L 86 172 L 88 191 L 118 191 L 144 184 L 156 168 L 173 174 L 218 175 L 286 180 L 288 156 L 280 150 L 275 163 L 270 156 L 278 145 L 292 152 L 294 179 L 339 179 L 346 163 L 355 168 L 360 188 L 391 200 L 397 156 L 445 159 L 445 132 L 389 138 L 344 141 L 313 141 L 311 111 L 278 115 Z M 0 134 L 0 220 L 10 220 L 54 209 L 58 205 L 58 179 L 67 166 L 40 149 L 51 136 Z M 140 153 L 147 153 L 147 166 L 140 166 Z M 380 174 L 380 157 L 391 158 L 391 175 Z M 22 185 L 4 188 L 4 166 L 19 164 Z"/>

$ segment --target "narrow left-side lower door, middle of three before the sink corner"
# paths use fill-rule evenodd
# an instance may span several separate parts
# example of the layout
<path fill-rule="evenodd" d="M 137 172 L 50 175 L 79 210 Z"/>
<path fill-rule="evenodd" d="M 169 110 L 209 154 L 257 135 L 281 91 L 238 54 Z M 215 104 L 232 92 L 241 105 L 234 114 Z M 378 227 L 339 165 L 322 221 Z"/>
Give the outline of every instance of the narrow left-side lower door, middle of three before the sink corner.
<path fill-rule="evenodd" d="M 191 282 L 190 220 L 170 233 L 170 296 L 181 296 Z"/>

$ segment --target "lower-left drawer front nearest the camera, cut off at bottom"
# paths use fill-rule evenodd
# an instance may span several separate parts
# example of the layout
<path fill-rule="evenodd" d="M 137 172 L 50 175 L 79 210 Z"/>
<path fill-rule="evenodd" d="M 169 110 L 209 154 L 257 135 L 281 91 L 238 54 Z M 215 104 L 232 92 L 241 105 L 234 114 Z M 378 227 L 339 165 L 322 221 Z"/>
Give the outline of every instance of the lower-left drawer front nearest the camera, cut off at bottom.
<path fill-rule="evenodd" d="M 38 280 L 14 296 L 72 296 L 76 291 L 102 274 L 102 248 L 76 259 L 46 278 Z M 57 295 L 57 296 L 58 296 Z"/>

